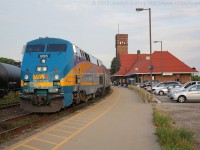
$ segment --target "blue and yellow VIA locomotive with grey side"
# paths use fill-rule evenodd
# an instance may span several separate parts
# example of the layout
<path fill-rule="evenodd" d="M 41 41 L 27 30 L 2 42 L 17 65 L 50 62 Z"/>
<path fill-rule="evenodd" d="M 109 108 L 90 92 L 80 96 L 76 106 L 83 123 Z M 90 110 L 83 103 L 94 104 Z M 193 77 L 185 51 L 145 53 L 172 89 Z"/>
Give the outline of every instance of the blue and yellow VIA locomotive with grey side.
<path fill-rule="evenodd" d="M 56 112 L 109 88 L 103 63 L 67 40 L 39 38 L 24 47 L 21 107 L 26 111 Z"/>

